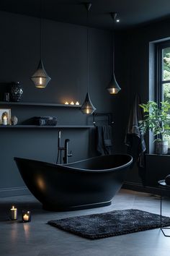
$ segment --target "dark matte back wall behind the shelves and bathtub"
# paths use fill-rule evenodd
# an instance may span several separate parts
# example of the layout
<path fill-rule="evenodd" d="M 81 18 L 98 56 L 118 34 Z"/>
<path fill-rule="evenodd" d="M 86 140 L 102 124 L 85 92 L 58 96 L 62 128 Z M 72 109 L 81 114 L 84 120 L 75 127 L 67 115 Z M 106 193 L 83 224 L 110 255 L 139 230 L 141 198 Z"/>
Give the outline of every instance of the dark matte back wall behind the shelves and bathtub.
<path fill-rule="evenodd" d="M 42 90 L 36 89 L 30 80 L 40 60 L 40 20 L 0 12 L 0 32 L 0 100 L 8 83 L 19 81 L 24 89 L 22 101 L 84 101 L 87 83 L 86 27 L 43 20 L 43 61 L 52 80 Z M 90 28 L 89 32 L 91 101 L 97 112 L 111 112 L 115 116 L 121 95 L 112 96 L 105 90 L 112 74 L 112 34 L 94 28 Z M 117 80 L 120 77 L 121 74 Z M 125 92 L 122 95 L 125 96 Z M 84 125 L 87 122 L 79 109 L 72 108 L 13 106 L 13 115 L 19 118 L 19 123 L 38 115 L 58 116 L 58 124 L 61 125 Z M 118 116 L 114 121 L 114 150 L 121 151 L 122 135 L 118 137 L 116 130 L 122 127 L 122 118 Z M 62 143 L 65 138 L 71 140 L 69 148 L 73 156 L 69 161 L 96 155 L 89 143 L 90 135 L 89 129 L 62 129 Z M 24 183 L 13 161 L 14 156 L 54 162 L 58 129 L 1 129 L 0 141 L 0 194 L 21 194 Z"/>

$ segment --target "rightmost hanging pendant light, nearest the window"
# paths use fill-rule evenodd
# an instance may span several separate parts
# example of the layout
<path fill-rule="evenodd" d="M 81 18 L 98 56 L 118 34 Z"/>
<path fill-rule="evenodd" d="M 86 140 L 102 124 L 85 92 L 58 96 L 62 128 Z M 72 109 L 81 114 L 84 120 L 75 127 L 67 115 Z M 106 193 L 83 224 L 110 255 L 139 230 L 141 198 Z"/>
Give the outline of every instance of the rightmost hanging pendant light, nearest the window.
<path fill-rule="evenodd" d="M 117 22 L 116 20 L 116 17 L 117 17 L 117 13 L 115 12 L 111 12 L 111 17 L 112 17 L 112 20 L 113 22 L 115 23 L 115 21 Z M 113 54 L 113 59 L 112 59 L 112 68 L 113 68 L 113 74 L 112 74 L 112 79 L 111 81 L 109 82 L 109 85 L 107 87 L 107 90 L 109 91 L 110 94 L 116 94 L 116 93 L 119 93 L 119 91 L 121 90 L 120 86 L 117 84 L 117 80 L 116 80 L 116 77 L 115 77 L 115 73 L 114 73 L 114 33 L 113 33 L 113 39 L 112 39 L 112 54 Z"/>

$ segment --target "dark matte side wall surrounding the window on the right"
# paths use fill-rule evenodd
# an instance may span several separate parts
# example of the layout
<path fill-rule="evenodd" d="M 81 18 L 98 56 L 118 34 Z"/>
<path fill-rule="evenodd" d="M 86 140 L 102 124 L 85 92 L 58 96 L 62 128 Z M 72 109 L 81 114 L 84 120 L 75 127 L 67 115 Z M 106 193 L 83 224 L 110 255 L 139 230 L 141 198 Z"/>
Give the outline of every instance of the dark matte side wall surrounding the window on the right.
<path fill-rule="evenodd" d="M 124 122 L 119 131 L 122 135 L 125 135 L 135 93 L 140 95 L 142 103 L 153 100 L 155 85 L 154 43 L 158 40 L 169 39 L 169 25 L 170 20 L 164 20 L 116 33 L 116 74 L 121 81 L 124 93 L 120 95 L 117 103 L 120 111 L 116 112 L 115 119 L 120 119 L 120 116 L 123 116 Z M 153 145 L 151 144 L 149 148 L 147 139 L 146 137 L 147 152 L 152 153 Z M 124 144 L 121 147 L 124 147 Z M 141 184 L 136 166 L 130 170 L 127 181 Z"/>

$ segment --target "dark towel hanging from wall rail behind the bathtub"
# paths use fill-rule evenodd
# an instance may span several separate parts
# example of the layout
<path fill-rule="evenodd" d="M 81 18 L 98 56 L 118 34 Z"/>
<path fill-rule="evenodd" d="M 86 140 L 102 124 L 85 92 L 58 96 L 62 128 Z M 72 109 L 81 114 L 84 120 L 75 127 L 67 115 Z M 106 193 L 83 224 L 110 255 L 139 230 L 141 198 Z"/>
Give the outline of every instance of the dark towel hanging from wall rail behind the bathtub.
<path fill-rule="evenodd" d="M 100 155 L 112 153 L 112 127 L 109 125 L 97 126 L 97 152 Z"/>

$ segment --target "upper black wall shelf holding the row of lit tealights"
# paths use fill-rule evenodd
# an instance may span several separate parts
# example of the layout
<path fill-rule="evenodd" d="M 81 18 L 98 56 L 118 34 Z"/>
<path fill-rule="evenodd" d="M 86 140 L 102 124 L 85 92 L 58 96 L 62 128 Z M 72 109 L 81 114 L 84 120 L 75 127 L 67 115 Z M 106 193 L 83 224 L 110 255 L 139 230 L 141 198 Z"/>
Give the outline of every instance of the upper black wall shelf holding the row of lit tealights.
<path fill-rule="evenodd" d="M 11 101 L 0 101 L 0 105 L 4 106 L 50 106 L 50 107 L 65 107 L 65 108 L 80 108 L 81 105 L 66 105 L 58 103 L 34 103 L 34 102 L 11 102 Z"/>

